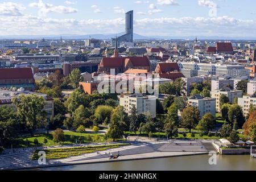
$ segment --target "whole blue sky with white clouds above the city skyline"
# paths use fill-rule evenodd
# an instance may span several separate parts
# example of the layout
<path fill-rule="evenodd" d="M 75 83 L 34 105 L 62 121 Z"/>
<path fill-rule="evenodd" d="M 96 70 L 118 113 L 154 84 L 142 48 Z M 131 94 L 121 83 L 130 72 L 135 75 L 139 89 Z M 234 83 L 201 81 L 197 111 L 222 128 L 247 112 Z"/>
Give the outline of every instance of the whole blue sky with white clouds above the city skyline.
<path fill-rule="evenodd" d="M 125 31 L 143 36 L 256 37 L 254 0 L 0 0 L 0 35 L 88 35 Z"/>

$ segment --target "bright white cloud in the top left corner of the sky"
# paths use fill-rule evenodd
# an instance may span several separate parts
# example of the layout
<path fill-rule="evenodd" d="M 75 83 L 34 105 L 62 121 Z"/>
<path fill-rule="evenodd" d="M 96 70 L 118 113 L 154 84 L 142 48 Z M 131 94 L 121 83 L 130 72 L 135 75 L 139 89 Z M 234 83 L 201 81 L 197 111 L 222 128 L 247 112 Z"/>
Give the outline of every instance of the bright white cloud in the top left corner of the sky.
<path fill-rule="evenodd" d="M 20 16 L 22 13 L 20 11 L 25 10 L 26 8 L 14 2 L 3 2 L 0 3 L 0 15 L 3 16 Z"/>

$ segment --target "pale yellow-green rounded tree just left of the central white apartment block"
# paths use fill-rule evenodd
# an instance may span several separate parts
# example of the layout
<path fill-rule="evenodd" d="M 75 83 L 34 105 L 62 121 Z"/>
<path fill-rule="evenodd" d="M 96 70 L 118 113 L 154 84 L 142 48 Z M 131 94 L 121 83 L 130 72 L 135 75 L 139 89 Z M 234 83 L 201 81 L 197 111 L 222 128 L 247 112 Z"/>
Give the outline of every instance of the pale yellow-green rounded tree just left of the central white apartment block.
<path fill-rule="evenodd" d="M 112 106 L 100 105 L 96 108 L 94 117 L 96 117 L 100 123 L 103 123 L 106 118 L 108 118 L 109 121 L 112 111 Z"/>

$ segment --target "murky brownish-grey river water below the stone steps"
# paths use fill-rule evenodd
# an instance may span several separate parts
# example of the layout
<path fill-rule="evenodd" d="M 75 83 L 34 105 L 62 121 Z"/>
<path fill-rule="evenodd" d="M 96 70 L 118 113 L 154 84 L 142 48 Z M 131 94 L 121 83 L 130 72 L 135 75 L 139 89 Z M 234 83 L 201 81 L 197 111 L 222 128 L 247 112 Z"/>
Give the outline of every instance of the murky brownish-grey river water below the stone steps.
<path fill-rule="evenodd" d="M 173 158 L 130 160 L 74 166 L 49 167 L 42 170 L 75 171 L 256 171 L 256 158 L 250 155 L 217 155 L 217 164 L 209 164 L 209 155 L 181 156 Z"/>

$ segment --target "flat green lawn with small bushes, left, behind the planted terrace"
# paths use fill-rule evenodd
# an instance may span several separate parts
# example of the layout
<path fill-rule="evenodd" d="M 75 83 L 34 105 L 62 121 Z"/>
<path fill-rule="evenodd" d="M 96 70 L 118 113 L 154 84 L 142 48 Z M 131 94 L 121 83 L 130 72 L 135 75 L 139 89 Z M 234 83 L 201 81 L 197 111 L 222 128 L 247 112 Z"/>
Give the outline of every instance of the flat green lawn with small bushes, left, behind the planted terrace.
<path fill-rule="evenodd" d="M 71 142 L 71 136 L 74 136 L 75 139 L 77 139 L 77 143 L 102 143 L 106 142 L 104 139 L 104 134 L 97 134 L 97 133 L 76 133 L 73 131 L 65 131 L 64 132 L 64 142 L 62 143 L 56 143 L 53 142 L 52 133 L 49 134 L 38 134 L 34 135 L 34 137 L 22 137 L 18 138 L 14 141 L 13 147 L 14 148 L 23 148 L 23 147 L 35 147 L 34 139 L 38 139 L 38 146 L 44 145 L 44 138 L 48 140 L 47 146 L 59 146 L 59 145 L 67 145 L 67 144 L 73 144 Z M 80 142 L 81 138 L 81 142 Z M 28 140 L 28 143 L 27 143 Z"/>

